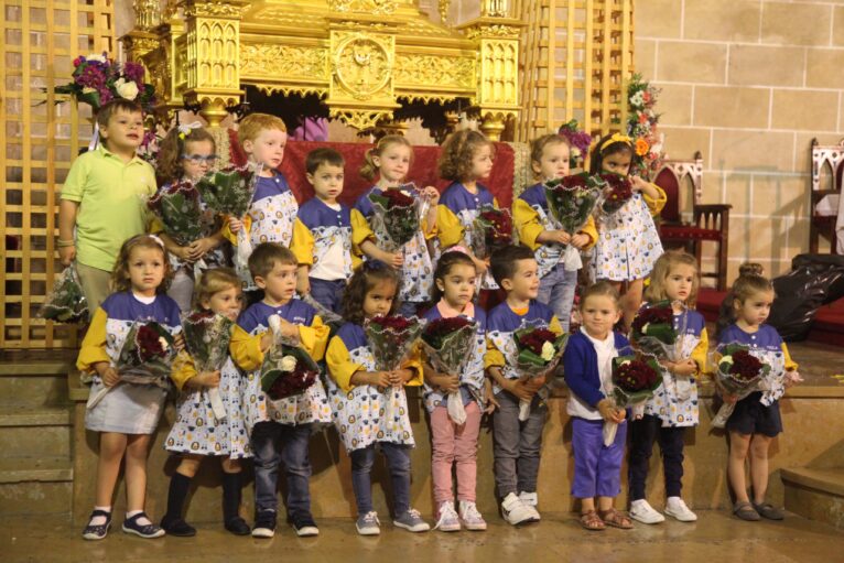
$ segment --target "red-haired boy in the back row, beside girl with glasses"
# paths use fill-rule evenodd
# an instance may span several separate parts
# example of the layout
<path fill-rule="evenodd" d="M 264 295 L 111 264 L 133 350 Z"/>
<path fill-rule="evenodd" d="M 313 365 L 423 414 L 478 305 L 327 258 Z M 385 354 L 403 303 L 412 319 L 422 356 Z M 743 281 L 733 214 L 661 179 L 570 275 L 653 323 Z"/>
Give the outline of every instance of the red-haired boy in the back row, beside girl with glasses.
<path fill-rule="evenodd" d="M 262 167 L 245 220 L 242 224 L 239 220 L 229 220 L 230 232 L 227 232 L 227 236 L 232 245 L 237 245 L 236 235 L 242 228 L 249 234 L 252 249 L 261 242 L 279 242 L 290 247 L 299 204 L 284 174 L 278 170 L 284 159 L 284 145 L 288 143 L 284 121 L 268 113 L 250 113 L 240 121 L 237 134 L 249 160 L 261 164 Z M 238 274 L 246 280 L 244 291 L 251 294 L 247 297 L 250 303 L 255 302 L 259 292 L 250 281 L 246 264 L 242 260 L 235 260 L 235 266 Z"/>

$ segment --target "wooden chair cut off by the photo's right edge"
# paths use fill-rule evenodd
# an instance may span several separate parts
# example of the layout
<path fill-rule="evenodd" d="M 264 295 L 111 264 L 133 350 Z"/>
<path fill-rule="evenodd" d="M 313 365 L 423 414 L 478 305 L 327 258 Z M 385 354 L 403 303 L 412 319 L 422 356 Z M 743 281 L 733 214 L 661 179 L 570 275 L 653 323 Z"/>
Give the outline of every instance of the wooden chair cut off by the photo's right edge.
<path fill-rule="evenodd" d="M 829 174 L 829 187 L 822 186 L 823 175 Z M 818 253 L 821 236 L 830 239 L 833 255 L 838 252 L 835 223 L 838 218 L 838 202 L 841 197 L 842 176 L 844 175 L 844 139 L 838 144 L 821 145 L 818 139 L 812 139 L 812 216 L 809 221 L 809 252 Z M 831 204 L 819 213 L 818 204 L 830 197 Z"/>

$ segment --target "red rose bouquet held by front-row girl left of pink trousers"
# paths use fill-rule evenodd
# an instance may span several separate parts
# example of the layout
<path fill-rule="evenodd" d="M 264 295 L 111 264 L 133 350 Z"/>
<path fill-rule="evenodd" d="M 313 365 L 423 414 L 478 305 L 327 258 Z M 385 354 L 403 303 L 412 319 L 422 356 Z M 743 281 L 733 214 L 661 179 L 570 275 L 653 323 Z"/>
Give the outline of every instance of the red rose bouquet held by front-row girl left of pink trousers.
<path fill-rule="evenodd" d="M 364 331 L 372 348 L 375 369 L 394 371 L 401 368 L 402 361 L 416 344 L 423 327 L 423 323 L 415 316 L 376 316 L 367 320 L 364 323 Z M 398 391 L 392 387 L 383 391 L 389 394 L 385 404 L 385 416 L 392 421 L 394 419 L 392 399 L 397 397 Z"/>

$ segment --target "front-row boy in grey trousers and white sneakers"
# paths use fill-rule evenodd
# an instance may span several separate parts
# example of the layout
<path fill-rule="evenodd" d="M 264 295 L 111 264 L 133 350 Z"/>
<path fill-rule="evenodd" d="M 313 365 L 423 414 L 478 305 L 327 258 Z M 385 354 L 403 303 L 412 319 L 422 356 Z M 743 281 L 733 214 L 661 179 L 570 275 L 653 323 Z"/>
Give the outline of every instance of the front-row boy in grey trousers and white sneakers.
<path fill-rule="evenodd" d="M 526 324 L 545 325 L 556 334 L 562 328 L 551 308 L 535 301 L 539 267 L 529 248 L 505 247 L 493 253 L 490 266 L 496 283 L 507 292 L 505 302 L 487 315 L 485 364 L 498 405 L 493 418 L 495 478 L 501 515 L 517 526 L 540 519 L 535 509 L 537 475 L 548 407 L 539 397 L 544 381 L 523 379 L 515 368 L 512 333 Z M 524 422 L 519 421 L 522 399 L 532 401 Z"/>

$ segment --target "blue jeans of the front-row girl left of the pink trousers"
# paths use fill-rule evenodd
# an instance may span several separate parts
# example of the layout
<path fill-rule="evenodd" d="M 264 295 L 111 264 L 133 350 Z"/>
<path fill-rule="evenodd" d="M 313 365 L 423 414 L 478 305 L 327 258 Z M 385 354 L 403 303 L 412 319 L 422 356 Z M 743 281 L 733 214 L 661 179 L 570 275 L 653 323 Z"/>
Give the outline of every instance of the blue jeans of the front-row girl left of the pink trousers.
<path fill-rule="evenodd" d="M 410 510 L 410 446 L 379 442 L 381 453 L 387 457 L 387 467 L 392 481 L 392 510 L 398 518 Z M 372 481 L 369 474 L 375 463 L 375 444 L 355 450 L 351 457 L 351 488 L 359 516 L 372 511 Z"/>

